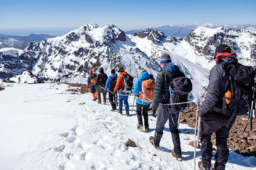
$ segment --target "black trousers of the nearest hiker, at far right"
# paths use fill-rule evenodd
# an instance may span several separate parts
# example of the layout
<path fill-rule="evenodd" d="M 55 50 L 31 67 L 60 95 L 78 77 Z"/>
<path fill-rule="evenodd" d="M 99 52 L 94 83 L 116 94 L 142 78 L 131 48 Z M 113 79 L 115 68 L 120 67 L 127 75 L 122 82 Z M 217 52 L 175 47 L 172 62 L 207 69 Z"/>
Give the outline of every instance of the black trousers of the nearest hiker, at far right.
<path fill-rule="evenodd" d="M 212 142 L 211 136 L 215 132 L 217 153 L 215 154 L 215 170 L 224 170 L 227 163 L 229 150 L 227 147 L 227 138 L 229 131 L 236 121 L 236 116 L 226 127 L 229 117 L 218 112 L 208 112 L 204 115 L 201 121 L 200 136 L 201 136 L 201 156 L 204 167 L 211 167 L 212 159 Z"/>

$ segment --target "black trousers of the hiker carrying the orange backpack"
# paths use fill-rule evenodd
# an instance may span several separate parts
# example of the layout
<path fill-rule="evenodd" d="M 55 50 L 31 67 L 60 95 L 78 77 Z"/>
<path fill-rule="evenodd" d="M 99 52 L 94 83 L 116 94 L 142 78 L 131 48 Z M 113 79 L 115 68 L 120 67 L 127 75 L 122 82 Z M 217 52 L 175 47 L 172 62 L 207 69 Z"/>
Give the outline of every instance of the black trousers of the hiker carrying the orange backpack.
<path fill-rule="evenodd" d="M 143 118 L 144 118 L 144 126 L 148 127 L 148 108 L 150 107 L 149 105 L 140 105 L 136 103 L 136 113 L 137 113 L 137 118 L 138 118 L 138 123 L 139 125 L 143 125 L 142 122 L 142 115 L 141 115 L 141 110 L 143 109 Z"/>

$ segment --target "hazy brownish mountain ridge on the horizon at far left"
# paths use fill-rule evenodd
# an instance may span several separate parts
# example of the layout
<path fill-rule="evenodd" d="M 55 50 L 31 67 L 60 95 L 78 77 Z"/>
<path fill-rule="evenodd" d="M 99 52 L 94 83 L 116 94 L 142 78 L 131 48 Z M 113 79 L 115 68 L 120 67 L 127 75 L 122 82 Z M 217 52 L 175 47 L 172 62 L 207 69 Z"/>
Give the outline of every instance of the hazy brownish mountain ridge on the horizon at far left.
<path fill-rule="evenodd" d="M 0 34 L 0 48 L 13 47 L 18 49 L 25 49 L 30 42 L 41 41 L 45 37 L 52 38 L 55 36 L 50 36 L 45 34 L 30 34 L 28 36 Z"/>

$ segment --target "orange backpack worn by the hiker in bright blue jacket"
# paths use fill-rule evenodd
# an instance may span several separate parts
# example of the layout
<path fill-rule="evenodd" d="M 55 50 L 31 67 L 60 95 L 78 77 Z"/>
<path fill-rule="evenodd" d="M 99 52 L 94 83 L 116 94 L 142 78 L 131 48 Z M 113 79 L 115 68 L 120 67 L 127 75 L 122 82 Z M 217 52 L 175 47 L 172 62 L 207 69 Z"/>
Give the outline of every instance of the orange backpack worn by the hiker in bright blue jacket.
<path fill-rule="evenodd" d="M 151 102 L 154 97 L 155 82 L 152 79 L 145 79 L 141 83 L 142 94 L 139 94 L 140 100 L 143 102 Z"/>

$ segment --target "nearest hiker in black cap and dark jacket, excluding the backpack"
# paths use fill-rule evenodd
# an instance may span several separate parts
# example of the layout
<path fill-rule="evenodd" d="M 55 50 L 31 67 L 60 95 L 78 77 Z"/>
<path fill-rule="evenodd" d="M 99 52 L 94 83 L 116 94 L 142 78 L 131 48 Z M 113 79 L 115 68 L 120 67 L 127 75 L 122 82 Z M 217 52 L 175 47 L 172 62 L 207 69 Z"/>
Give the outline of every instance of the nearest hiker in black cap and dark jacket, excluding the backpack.
<path fill-rule="evenodd" d="M 201 170 L 212 170 L 212 142 L 211 136 L 215 132 L 217 153 L 215 154 L 215 170 L 224 170 L 229 156 L 227 137 L 229 131 L 236 121 L 236 116 L 227 125 L 230 117 L 221 111 L 222 97 L 226 93 L 227 65 L 237 64 L 236 54 L 231 53 L 228 45 L 221 44 L 215 49 L 216 65 L 211 69 L 207 97 L 204 100 L 198 116 L 201 117 L 201 156 L 202 161 L 198 163 Z M 227 127 L 226 127 L 227 125 Z"/>

